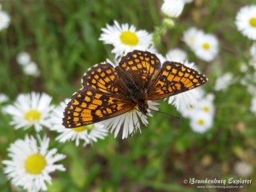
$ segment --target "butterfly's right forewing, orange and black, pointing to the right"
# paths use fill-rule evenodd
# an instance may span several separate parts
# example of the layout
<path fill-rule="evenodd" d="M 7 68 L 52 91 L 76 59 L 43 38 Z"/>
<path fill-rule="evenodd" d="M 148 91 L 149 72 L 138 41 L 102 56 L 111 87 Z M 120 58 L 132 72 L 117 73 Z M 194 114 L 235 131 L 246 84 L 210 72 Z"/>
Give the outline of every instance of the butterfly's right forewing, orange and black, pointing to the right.
<path fill-rule="evenodd" d="M 166 61 L 158 77 L 148 88 L 148 100 L 158 100 L 174 96 L 207 82 L 205 75 L 181 63 Z"/>

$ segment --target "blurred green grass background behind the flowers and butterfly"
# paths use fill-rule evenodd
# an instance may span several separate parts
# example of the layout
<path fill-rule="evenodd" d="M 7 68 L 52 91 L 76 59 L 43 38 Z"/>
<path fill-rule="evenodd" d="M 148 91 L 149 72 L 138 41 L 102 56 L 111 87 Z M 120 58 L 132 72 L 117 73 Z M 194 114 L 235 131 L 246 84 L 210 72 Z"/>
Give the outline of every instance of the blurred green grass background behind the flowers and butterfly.
<path fill-rule="evenodd" d="M 9 13 L 11 23 L 0 32 L 0 92 L 11 100 L 21 92 L 43 91 L 58 104 L 80 88 L 80 79 L 87 68 L 113 58 L 112 46 L 98 40 L 101 28 L 112 24 L 129 23 L 137 29 L 154 32 L 160 26 L 160 0 L 7 0 L 2 9 Z M 246 161 L 256 166 L 255 115 L 249 112 L 251 96 L 240 84 L 222 92 L 212 85 L 218 75 L 231 72 L 239 75 L 239 64 L 247 61 L 250 40 L 242 37 L 235 26 L 237 11 L 252 1 L 195 0 L 185 5 L 176 26 L 161 37 L 157 48 L 161 54 L 168 49 L 182 48 L 207 75 L 204 86 L 215 95 L 215 119 L 205 134 L 190 130 L 187 119 L 174 119 L 162 113 L 148 118 L 142 134 L 125 140 L 109 135 L 93 146 L 75 147 L 74 143 L 56 143 L 51 147 L 67 154 L 61 163 L 67 172 L 56 172 L 49 191 L 199 191 L 184 179 L 240 178 L 234 171 L 236 162 Z M 255 2 L 254 2 L 255 3 Z M 191 26 L 214 33 L 219 40 L 218 58 L 212 62 L 196 59 L 183 43 L 184 30 Z M 16 55 L 26 51 L 38 63 L 41 75 L 26 76 L 17 64 Z M 160 110 L 178 115 L 177 110 L 162 102 Z M 0 119 L 0 158 L 5 160 L 10 143 L 32 129 L 15 131 L 9 118 Z M 2 165 L 1 165 L 2 166 Z M 202 189 L 201 191 L 255 191 L 255 172 L 249 177 L 252 184 L 243 189 Z M 0 191 L 15 191 L 0 172 Z"/>

